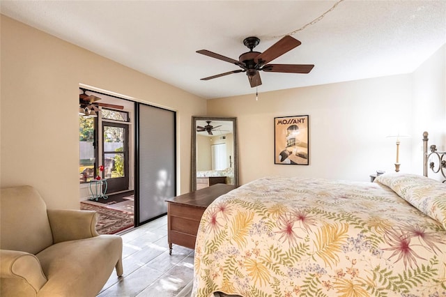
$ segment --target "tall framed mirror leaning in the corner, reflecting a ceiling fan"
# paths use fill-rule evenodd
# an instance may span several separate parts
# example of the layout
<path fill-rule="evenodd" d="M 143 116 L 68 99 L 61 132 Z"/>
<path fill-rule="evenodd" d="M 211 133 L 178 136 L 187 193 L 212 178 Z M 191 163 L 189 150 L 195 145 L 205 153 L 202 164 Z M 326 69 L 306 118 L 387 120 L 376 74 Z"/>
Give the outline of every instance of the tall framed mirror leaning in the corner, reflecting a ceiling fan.
<path fill-rule="evenodd" d="M 238 185 L 237 119 L 192 116 L 191 190 Z"/>

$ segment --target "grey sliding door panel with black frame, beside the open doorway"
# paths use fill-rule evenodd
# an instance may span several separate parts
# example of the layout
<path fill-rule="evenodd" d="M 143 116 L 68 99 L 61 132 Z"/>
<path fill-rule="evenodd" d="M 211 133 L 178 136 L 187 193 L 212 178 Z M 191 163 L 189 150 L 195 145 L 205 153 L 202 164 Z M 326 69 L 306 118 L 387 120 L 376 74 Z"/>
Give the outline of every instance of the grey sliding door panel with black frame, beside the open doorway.
<path fill-rule="evenodd" d="M 176 113 L 137 103 L 137 225 L 167 213 L 176 195 Z"/>

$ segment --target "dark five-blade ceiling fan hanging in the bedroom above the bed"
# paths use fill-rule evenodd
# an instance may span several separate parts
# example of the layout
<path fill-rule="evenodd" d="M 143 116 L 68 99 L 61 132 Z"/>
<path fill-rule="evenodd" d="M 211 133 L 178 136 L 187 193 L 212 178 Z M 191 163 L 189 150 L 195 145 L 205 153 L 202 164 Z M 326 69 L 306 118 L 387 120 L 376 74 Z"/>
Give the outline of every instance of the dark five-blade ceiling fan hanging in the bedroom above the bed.
<path fill-rule="evenodd" d="M 254 88 L 254 86 L 260 86 L 262 84 L 259 71 L 271 73 L 309 73 L 314 67 L 314 65 L 310 64 L 268 64 L 270 61 L 293 50 L 293 48 L 298 47 L 301 44 L 299 40 L 291 36 L 284 36 L 284 38 L 277 41 L 277 43 L 269 47 L 265 52 L 254 52 L 254 47 L 259 45 L 259 43 L 260 39 L 257 37 L 252 36 L 245 38 L 243 44 L 249 48 L 249 52 L 241 54 L 238 57 L 238 61 L 222 56 L 221 54 L 215 54 L 215 52 L 210 52 L 208 50 L 198 50 L 197 53 L 199 54 L 233 63 L 242 68 L 227 73 L 220 73 L 219 75 L 204 77 L 201 80 L 214 79 L 232 73 L 246 73 L 249 79 L 249 84 Z"/>

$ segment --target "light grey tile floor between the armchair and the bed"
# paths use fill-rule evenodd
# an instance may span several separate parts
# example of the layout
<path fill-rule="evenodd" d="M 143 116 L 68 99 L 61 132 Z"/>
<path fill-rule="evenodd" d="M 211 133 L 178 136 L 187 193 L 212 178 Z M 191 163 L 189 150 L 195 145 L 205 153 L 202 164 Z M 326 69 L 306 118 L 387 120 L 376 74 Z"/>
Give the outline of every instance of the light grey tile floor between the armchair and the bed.
<path fill-rule="evenodd" d="M 123 277 L 113 271 L 98 297 L 190 296 L 194 250 L 174 245 L 169 255 L 167 216 L 121 236 Z"/>

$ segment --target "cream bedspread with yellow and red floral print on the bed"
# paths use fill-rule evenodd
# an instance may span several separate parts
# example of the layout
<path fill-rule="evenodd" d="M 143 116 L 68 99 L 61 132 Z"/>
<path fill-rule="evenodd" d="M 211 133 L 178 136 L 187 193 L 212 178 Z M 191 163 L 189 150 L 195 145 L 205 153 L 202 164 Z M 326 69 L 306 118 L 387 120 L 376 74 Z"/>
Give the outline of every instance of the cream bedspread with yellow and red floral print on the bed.
<path fill-rule="evenodd" d="M 446 296 L 446 185 L 429 184 L 431 218 L 379 182 L 392 178 L 269 177 L 219 197 L 201 218 L 192 296 Z"/>

